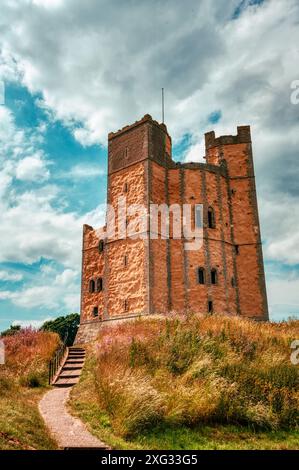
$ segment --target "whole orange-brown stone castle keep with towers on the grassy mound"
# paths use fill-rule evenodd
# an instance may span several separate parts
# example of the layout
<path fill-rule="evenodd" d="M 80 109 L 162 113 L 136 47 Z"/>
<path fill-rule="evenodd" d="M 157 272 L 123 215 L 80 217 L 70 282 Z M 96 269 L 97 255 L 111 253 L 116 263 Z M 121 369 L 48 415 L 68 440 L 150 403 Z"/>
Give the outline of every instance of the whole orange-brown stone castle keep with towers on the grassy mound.
<path fill-rule="evenodd" d="M 108 136 L 107 202 L 203 204 L 203 246 L 184 238 L 99 238 L 83 228 L 77 342 L 103 321 L 167 312 L 268 319 L 249 126 L 205 135 L 206 163 L 176 163 L 164 124 L 145 115 Z M 150 224 L 149 224 L 150 225 Z"/>

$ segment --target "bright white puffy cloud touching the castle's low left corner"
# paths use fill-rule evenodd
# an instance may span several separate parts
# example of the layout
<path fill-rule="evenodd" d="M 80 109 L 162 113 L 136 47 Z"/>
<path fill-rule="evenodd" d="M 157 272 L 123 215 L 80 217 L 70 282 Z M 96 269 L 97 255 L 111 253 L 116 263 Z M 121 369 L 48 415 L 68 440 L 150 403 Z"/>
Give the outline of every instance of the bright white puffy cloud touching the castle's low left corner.
<path fill-rule="evenodd" d="M 0 262 L 33 263 L 43 257 L 66 267 L 78 267 L 82 226 L 90 221 L 101 225 L 101 214 L 92 211 L 79 217 L 59 212 L 43 197 L 25 193 L 14 206 L 5 209 L 5 224 L 0 225 Z"/>

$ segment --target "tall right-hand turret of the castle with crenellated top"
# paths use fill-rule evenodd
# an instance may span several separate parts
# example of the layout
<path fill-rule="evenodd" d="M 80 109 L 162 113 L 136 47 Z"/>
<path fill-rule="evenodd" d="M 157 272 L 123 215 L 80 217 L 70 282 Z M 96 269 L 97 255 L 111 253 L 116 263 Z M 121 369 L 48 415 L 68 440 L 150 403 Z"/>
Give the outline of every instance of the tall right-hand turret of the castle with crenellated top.
<path fill-rule="evenodd" d="M 225 164 L 239 314 L 268 319 L 250 126 L 237 135 L 205 135 L 208 164 Z"/>

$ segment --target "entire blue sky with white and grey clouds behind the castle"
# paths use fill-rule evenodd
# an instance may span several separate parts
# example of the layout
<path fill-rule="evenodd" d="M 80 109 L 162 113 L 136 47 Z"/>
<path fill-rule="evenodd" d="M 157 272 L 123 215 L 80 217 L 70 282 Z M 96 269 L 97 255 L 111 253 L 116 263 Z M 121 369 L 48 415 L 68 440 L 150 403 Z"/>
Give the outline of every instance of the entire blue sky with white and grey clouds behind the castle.
<path fill-rule="evenodd" d="M 298 0 L 1 0 L 0 330 L 79 310 L 107 133 L 160 120 L 161 87 L 176 160 L 252 126 L 270 314 L 299 317 L 296 80 Z"/>

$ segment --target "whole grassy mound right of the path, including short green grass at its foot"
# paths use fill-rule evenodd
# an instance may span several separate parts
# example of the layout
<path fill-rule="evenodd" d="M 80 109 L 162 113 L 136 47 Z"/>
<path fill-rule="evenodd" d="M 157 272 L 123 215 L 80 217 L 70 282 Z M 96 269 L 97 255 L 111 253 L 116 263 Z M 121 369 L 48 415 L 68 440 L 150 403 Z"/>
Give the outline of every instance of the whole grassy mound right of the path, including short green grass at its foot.
<path fill-rule="evenodd" d="M 299 321 L 143 318 L 103 327 L 72 412 L 118 449 L 294 449 Z"/>

